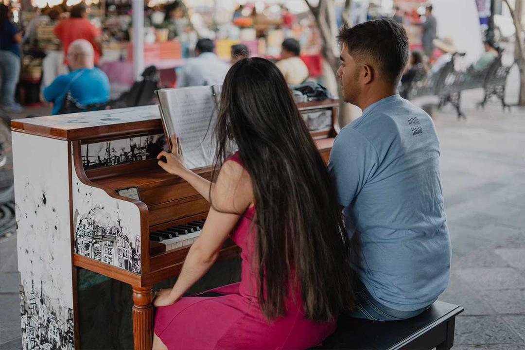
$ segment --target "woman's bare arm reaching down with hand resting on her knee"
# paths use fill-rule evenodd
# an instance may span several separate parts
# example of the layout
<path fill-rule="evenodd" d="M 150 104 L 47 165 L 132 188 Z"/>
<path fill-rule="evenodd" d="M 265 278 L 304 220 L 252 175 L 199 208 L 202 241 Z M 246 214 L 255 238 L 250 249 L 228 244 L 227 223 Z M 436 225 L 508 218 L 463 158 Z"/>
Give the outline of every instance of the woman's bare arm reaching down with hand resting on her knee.
<path fill-rule="evenodd" d="M 213 188 L 213 203 L 202 233 L 188 251 L 177 282 L 172 289 L 157 294 L 155 306 L 173 304 L 203 277 L 217 260 L 224 241 L 240 215 L 253 203 L 253 198 L 248 173 L 233 161 L 224 163 Z"/>

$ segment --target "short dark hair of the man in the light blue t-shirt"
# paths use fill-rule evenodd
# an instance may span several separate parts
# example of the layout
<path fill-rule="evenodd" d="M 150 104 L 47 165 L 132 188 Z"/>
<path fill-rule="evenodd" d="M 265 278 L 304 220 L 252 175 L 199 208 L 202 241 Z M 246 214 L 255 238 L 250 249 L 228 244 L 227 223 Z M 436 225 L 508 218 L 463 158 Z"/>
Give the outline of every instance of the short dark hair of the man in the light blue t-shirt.
<path fill-rule="evenodd" d="M 370 59 L 383 78 L 395 84 L 408 62 L 408 38 L 403 25 L 390 18 L 375 19 L 350 27 L 343 24 L 339 44 L 358 62 Z"/>

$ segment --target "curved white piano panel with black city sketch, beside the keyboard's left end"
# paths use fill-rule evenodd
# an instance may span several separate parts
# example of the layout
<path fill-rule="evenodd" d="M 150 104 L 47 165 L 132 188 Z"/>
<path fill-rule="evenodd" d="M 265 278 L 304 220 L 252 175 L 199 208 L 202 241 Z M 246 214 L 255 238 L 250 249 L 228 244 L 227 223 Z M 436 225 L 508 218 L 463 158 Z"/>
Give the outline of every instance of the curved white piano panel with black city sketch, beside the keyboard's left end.
<path fill-rule="evenodd" d="M 71 162 L 75 253 L 141 273 L 139 207 L 130 201 L 110 197 L 101 188 L 83 183 L 74 163 L 75 160 Z"/>

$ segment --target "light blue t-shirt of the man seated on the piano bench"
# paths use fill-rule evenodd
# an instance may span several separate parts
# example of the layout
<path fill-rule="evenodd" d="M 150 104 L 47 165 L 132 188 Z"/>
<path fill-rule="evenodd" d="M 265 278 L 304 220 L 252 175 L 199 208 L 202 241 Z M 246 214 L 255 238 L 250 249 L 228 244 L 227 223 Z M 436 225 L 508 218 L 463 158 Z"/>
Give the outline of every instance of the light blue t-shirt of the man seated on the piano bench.
<path fill-rule="evenodd" d="M 349 235 L 360 238 L 353 268 L 367 290 L 399 311 L 434 302 L 451 249 L 428 114 L 398 94 L 370 105 L 336 137 L 328 168 Z"/>

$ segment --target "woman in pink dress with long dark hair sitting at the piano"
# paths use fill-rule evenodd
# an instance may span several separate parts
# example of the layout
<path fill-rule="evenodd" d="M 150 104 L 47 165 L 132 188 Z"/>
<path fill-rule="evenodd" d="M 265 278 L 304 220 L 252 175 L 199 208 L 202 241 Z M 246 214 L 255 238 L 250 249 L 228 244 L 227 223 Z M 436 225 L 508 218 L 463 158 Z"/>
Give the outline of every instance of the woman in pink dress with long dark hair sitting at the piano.
<path fill-rule="evenodd" d="M 317 345 L 353 306 L 351 251 L 327 168 L 273 63 L 246 58 L 229 70 L 215 136 L 214 182 L 176 152 L 159 154 L 159 165 L 211 208 L 175 285 L 154 300 L 153 348 Z M 240 283 L 213 290 L 220 296 L 181 298 L 228 236 L 242 249 Z"/>

